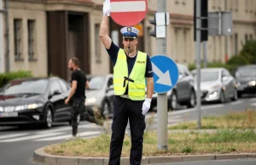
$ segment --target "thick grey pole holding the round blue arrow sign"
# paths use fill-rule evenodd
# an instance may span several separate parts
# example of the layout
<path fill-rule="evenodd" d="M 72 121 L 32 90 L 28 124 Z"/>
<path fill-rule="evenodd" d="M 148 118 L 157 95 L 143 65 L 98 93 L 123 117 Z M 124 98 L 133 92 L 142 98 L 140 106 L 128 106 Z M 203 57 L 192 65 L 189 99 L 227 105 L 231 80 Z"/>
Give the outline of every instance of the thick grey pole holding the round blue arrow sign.
<path fill-rule="evenodd" d="M 157 12 L 166 13 L 166 0 L 158 0 Z M 166 26 L 165 26 L 166 28 Z M 157 38 L 157 53 L 166 55 L 166 37 Z M 159 150 L 168 150 L 167 143 L 167 94 L 157 95 L 157 146 Z"/>

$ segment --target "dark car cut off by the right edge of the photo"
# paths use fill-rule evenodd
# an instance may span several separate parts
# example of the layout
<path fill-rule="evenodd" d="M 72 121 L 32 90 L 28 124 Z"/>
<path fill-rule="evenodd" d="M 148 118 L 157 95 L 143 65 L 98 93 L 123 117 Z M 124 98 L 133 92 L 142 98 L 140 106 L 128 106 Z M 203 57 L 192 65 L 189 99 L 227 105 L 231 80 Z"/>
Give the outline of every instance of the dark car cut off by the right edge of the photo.
<path fill-rule="evenodd" d="M 235 71 L 237 94 L 256 94 L 256 65 L 240 66 Z"/>

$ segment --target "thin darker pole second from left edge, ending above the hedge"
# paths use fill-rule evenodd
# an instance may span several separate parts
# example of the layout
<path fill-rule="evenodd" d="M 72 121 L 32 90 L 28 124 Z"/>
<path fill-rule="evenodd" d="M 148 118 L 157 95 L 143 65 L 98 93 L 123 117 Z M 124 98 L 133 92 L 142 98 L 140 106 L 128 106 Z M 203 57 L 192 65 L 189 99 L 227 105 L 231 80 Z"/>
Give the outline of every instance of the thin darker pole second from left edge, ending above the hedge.
<path fill-rule="evenodd" d="M 5 0 L 5 37 L 6 37 L 6 71 L 9 71 L 9 2 Z"/>

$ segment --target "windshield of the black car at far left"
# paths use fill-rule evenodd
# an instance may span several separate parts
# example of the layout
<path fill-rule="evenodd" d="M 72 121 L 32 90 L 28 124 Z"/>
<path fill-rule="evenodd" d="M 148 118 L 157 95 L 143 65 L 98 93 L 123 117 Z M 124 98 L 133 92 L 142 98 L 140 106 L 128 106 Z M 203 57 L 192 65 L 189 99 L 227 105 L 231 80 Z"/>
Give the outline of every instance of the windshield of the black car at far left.
<path fill-rule="evenodd" d="M 6 84 L 0 94 L 44 94 L 49 81 L 46 79 L 41 80 L 15 80 Z"/>

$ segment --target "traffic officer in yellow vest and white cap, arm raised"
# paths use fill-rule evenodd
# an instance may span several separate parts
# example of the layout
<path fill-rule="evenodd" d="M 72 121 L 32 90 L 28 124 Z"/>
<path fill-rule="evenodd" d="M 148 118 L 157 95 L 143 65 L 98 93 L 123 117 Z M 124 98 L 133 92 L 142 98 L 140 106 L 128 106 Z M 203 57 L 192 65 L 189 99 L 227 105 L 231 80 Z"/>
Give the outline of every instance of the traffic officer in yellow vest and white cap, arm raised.
<path fill-rule="evenodd" d="M 141 164 L 143 156 L 143 134 L 146 128 L 145 114 L 148 112 L 154 91 L 154 79 L 148 54 L 137 50 L 137 35 L 134 27 L 124 27 L 124 49 L 115 45 L 108 36 L 111 4 L 103 4 L 100 27 L 102 43 L 113 62 L 113 123 L 110 143 L 109 165 L 119 165 L 127 122 L 131 128 L 130 164 Z M 147 96 L 145 88 L 147 82 Z"/>

